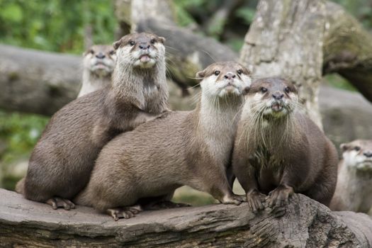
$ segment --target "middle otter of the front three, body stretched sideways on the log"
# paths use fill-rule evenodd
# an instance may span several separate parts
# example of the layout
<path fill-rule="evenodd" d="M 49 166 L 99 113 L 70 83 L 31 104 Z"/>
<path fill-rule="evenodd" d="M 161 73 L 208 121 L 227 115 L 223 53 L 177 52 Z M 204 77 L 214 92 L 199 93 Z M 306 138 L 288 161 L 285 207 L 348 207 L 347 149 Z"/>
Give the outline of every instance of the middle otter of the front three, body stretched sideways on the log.
<path fill-rule="evenodd" d="M 232 193 L 226 169 L 250 72 L 236 62 L 218 62 L 196 77 L 202 79 L 197 107 L 167 113 L 108 142 L 77 204 L 115 220 L 130 218 L 142 210 L 142 198 L 169 199 L 184 185 L 222 203 L 243 201 Z"/>

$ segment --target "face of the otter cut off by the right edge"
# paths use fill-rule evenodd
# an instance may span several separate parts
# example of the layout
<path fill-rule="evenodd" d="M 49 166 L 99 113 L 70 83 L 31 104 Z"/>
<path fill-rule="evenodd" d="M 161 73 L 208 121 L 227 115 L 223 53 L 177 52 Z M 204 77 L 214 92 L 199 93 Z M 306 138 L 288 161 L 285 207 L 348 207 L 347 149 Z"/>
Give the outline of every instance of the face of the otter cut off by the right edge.
<path fill-rule="evenodd" d="M 347 167 L 372 172 L 372 140 L 354 140 L 340 148 Z"/>

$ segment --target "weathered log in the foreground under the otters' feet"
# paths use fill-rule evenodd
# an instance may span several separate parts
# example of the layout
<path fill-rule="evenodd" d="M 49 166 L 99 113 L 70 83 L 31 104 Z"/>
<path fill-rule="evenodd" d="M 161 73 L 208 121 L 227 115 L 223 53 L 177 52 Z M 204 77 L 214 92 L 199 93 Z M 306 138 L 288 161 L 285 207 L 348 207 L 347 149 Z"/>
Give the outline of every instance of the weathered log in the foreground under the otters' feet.
<path fill-rule="evenodd" d="M 142 212 L 115 222 L 92 208 L 52 210 L 0 189 L 0 243 L 4 247 L 371 247 L 372 220 L 332 212 L 295 195 L 286 214 L 246 203 Z"/>

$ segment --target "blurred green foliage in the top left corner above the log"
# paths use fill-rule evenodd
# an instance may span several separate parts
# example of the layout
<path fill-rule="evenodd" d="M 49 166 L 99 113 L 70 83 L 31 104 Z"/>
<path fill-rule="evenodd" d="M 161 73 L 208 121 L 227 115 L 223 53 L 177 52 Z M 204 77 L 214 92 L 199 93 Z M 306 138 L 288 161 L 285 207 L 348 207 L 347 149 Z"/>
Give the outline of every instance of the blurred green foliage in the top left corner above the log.
<path fill-rule="evenodd" d="M 84 30 L 94 43 L 112 43 L 112 1 L 0 0 L 0 42 L 55 52 L 81 53 Z"/>

